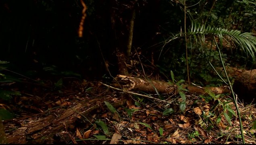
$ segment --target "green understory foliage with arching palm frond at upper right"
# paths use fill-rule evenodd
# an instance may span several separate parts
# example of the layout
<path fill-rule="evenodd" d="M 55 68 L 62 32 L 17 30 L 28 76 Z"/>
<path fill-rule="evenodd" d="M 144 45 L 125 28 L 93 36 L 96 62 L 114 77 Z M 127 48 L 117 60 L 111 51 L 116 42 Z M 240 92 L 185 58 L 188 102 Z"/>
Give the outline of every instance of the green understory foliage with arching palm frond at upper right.
<path fill-rule="evenodd" d="M 254 33 L 250 31 L 242 32 L 241 30 L 245 29 L 239 30 L 237 27 L 227 27 L 227 25 L 220 24 L 229 23 L 230 25 L 235 25 L 236 19 L 224 19 L 224 15 L 221 13 L 227 11 L 229 17 L 235 17 L 238 15 L 237 13 L 228 12 L 232 8 L 239 9 L 241 13 L 250 12 L 250 18 L 255 18 L 255 3 L 250 0 L 243 0 L 242 2 L 234 1 L 232 4 L 225 3 L 227 6 L 230 6 L 225 10 L 223 9 L 224 3 L 213 1 L 210 3 L 212 5 L 209 5 L 208 2 L 202 0 L 198 3 L 190 2 L 190 5 L 186 5 L 187 14 L 189 15 L 187 32 L 171 33 L 171 36 L 164 41 L 164 46 L 160 49 L 159 58 L 161 63 L 158 64 L 158 67 L 162 74 L 170 78 L 169 71 L 173 70 L 175 74 L 179 74 L 177 76 L 178 79 L 187 78 L 185 67 L 187 59 L 189 77 L 194 83 L 200 85 L 221 85 L 221 79 L 212 73 L 212 66 L 221 66 L 221 60 L 219 59 L 219 53 L 216 51 L 218 50 L 216 46 L 219 46 L 221 49 L 221 55 L 225 65 L 241 67 L 249 64 L 250 66 L 248 67 L 252 68 L 256 62 L 256 37 Z M 177 4 L 183 9 L 184 5 L 182 1 L 177 2 Z M 194 8 L 194 6 L 203 8 L 203 11 Z M 238 6 L 238 8 L 233 6 Z M 248 9 L 244 10 L 246 8 Z M 240 22 L 246 22 L 245 19 L 243 20 L 240 20 Z M 253 30 L 254 23 L 249 24 L 250 29 Z M 240 25 L 241 27 L 242 25 Z M 185 42 L 185 37 L 187 37 L 187 42 Z M 187 58 L 185 56 L 185 43 L 187 43 L 188 49 Z"/>

